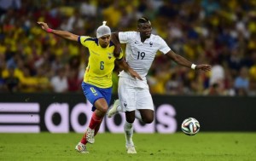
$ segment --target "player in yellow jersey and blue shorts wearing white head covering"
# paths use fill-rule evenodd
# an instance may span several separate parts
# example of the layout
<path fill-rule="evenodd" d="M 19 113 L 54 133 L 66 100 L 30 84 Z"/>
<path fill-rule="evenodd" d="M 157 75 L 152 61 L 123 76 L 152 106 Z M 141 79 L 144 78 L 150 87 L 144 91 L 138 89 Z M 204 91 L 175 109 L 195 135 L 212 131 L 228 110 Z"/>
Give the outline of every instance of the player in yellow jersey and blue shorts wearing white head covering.
<path fill-rule="evenodd" d="M 88 101 L 93 105 L 93 114 L 90 118 L 90 124 L 79 144 L 75 147 L 78 152 L 87 153 L 86 143 L 94 143 L 94 136 L 100 129 L 102 118 L 108 111 L 112 95 L 112 72 L 114 61 L 130 73 L 133 78 L 140 78 L 137 72 L 134 72 L 123 59 L 123 53 L 113 55 L 115 46 L 110 41 L 111 30 L 106 26 L 106 21 L 99 26 L 96 31 L 96 37 L 78 36 L 71 32 L 53 30 L 44 22 L 38 22 L 46 32 L 72 41 L 78 41 L 90 51 L 89 63 L 84 73 L 82 89 Z"/>

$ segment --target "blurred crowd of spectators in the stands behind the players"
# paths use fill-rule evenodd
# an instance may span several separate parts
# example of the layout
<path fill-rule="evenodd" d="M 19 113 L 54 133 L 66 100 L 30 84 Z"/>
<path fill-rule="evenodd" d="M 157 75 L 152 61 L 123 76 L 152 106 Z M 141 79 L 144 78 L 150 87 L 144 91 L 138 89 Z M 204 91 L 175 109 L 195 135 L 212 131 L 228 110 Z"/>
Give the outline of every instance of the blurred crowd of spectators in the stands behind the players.
<path fill-rule="evenodd" d="M 255 9 L 256 0 L 0 0 L 0 91 L 81 92 L 88 50 L 38 21 L 95 37 L 102 20 L 113 32 L 136 31 L 146 16 L 178 55 L 212 65 L 195 72 L 158 53 L 148 72 L 152 94 L 256 95 Z"/>

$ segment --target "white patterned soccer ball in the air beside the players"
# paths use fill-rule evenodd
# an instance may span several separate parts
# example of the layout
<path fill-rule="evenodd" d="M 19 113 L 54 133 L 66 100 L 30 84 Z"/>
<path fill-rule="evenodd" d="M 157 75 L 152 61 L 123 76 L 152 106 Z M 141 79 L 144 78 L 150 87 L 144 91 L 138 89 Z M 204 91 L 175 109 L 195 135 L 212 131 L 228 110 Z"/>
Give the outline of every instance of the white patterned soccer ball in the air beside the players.
<path fill-rule="evenodd" d="M 195 135 L 199 132 L 200 124 L 195 118 L 186 118 L 181 126 L 185 135 Z"/>

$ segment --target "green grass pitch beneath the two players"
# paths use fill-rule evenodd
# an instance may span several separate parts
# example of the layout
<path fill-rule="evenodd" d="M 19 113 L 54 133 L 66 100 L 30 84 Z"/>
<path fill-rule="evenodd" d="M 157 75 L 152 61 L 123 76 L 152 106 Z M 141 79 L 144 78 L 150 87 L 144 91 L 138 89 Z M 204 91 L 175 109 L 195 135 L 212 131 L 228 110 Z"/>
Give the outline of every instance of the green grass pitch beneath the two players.
<path fill-rule="evenodd" d="M 256 133 L 134 134 L 137 154 L 125 152 L 125 135 L 103 133 L 88 145 L 88 154 L 74 150 L 82 134 L 0 134 L 0 160 L 86 161 L 253 161 Z"/>

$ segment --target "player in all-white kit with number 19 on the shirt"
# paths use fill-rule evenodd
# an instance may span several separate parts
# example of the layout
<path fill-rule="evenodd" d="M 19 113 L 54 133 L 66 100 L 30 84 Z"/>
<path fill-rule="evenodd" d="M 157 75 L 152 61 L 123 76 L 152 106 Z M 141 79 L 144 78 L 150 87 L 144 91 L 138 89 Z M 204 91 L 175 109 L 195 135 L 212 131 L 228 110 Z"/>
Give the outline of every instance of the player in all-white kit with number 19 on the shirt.
<path fill-rule="evenodd" d="M 137 80 L 131 78 L 125 71 L 120 72 L 119 101 L 115 101 L 113 108 L 108 112 L 109 118 L 113 117 L 116 112 L 125 112 L 124 129 L 127 153 L 137 153 L 132 141 L 135 116 L 145 124 L 150 124 L 154 120 L 154 103 L 149 93 L 146 76 L 158 50 L 178 65 L 204 72 L 211 70 L 209 65 L 195 65 L 182 56 L 176 55 L 161 37 L 151 34 L 152 26 L 147 18 L 142 17 L 137 20 L 137 30 L 138 32 L 114 32 L 112 34 L 112 41 L 117 46 L 114 55 L 121 52 L 120 43 L 125 43 L 127 63 L 143 78 L 143 81 Z M 162 75 L 160 73 L 160 77 Z"/>

